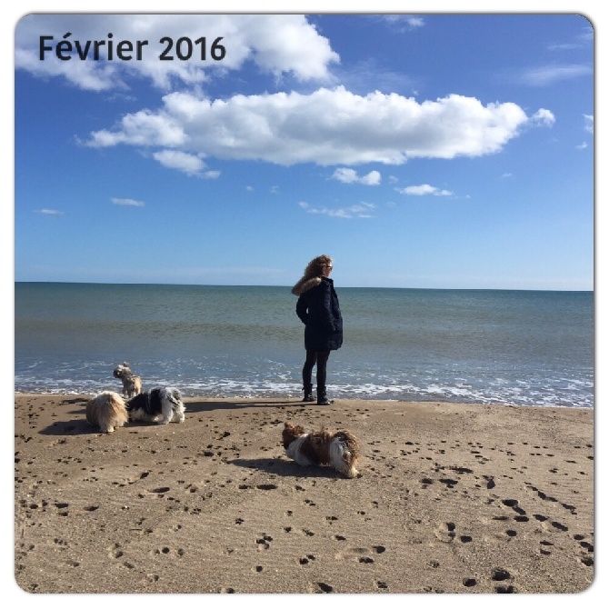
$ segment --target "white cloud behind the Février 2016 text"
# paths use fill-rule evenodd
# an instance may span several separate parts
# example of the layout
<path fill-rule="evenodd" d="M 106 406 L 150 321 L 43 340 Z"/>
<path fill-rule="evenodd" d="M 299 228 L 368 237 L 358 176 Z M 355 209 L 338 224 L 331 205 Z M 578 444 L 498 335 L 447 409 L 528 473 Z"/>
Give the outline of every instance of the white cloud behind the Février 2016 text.
<path fill-rule="evenodd" d="M 65 37 L 66 34 L 69 36 Z M 112 39 L 108 34 L 112 33 Z M 45 41 L 52 46 L 40 59 L 40 36 L 53 36 Z M 193 45 L 192 59 L 177 61 L 175 49 L 180 38 L 192 43 L 205 36 L 206 59 L 202 62 L 203 43 Z M 166 43 L 174 41 L 171 52 L 174 61 L 160 61 Z M 215 40 L 225 46 L 225 56 L 218 61 L 211 58 Z M 55 46 L 64 41 L 82 48 L 86 41 L 105 41 L 99 47 L 100 59 L 107 57 L 109 42 L 113 43 L 114 59 L 93 59 L 95 46 L 88 49 L 86 61 L 75 53 L 62 61 L 55 55 Z M 121 41 L 130 42 L 134 50 L 131 60 L 117 58 Z M 137 59 L 137 41 L 141 59 Z M 183 54 L 187 50 L 184 43 Z M 305 15 L 25 15 L 15 28 L 15 68 L 24 69 L 41 77 L 63 76 L 73 85 L 91 91 L 125 88 L 126 75 L 150 79 L 157 87 L 168 89 L 172 80 L 185 85 L 204 83 L 210 75 L 239 69 L 252 61 L 258 69 L 275 76 L 294 75 L 301 81 L 330 79 L 329 66 L 339 62 L 329 41 L 319 35 Z"/>

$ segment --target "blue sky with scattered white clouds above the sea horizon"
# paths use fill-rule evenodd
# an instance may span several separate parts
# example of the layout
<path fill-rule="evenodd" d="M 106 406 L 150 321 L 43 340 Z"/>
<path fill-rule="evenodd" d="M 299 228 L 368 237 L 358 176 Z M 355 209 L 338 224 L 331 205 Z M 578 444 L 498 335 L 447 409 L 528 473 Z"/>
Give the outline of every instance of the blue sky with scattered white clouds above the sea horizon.
<path fill-rule="evenodd" d="M 584 16 L 15 23 L 16 281 L 293 285 L 325 253 L 344 286 L 593 289 Z M 68 32 L 148 45 L 61 61 Z M 159 59 L 202 35 L 225 55 Z"/>

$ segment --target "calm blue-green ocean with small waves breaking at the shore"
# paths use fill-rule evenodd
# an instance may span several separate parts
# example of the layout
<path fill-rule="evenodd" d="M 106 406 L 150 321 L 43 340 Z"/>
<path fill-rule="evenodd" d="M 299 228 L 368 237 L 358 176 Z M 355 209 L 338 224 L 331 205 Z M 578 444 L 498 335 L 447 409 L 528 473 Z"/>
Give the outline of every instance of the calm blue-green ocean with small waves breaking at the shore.
<path fill-rule="evenodd" d="M 594 294 L 335 284 L 344 345 L 328 396 L 594 407 Z M 15 283 L 15 391 L 144 388 L 302 396 L 304 325 L 289 287 Z"/>

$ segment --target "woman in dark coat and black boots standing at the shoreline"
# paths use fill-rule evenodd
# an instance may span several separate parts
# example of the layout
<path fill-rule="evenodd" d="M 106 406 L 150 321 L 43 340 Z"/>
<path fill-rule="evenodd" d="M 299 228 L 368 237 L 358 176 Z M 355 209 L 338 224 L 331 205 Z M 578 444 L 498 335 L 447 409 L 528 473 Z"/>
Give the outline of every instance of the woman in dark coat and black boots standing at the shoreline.
<path fill-rule="evenodd" d="M 326 364 L 330 352 L 343 344 L 343 317 L 334 291 L 332 258 L 319 255 L 304 269 L 304 275 L 292 288 L 298 296 L 296 314 L 304 324 L 303 402 L 313 402 L 311 376 L 317 365 L 317 404 L 330 404 L 326 396 Z"/>

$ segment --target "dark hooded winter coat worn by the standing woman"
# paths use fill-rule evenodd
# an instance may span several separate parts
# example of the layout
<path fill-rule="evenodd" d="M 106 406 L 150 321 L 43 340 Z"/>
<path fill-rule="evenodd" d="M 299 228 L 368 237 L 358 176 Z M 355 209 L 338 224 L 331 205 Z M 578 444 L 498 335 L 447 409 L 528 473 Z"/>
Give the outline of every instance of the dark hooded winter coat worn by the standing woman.
<path fill-rule="evenodd" d="M 334 282 L 322 277 L 298 297 L 296 314 L 304 324 L 307 351 L 333 351 L 343 344 L 343 316 L 334 291 Z"/>

